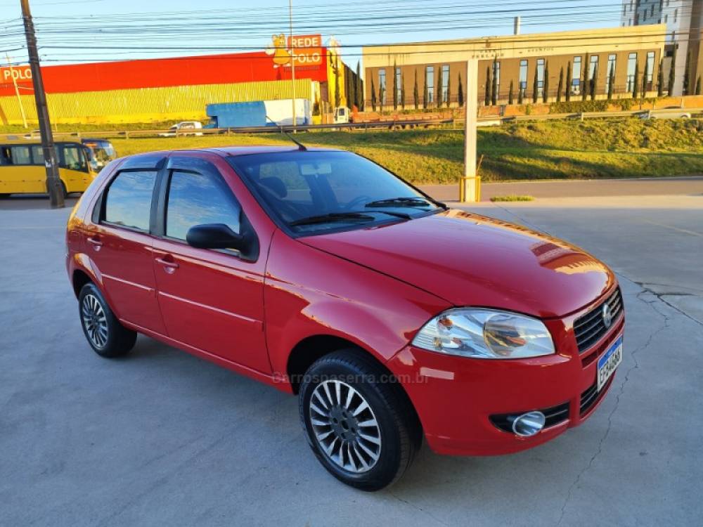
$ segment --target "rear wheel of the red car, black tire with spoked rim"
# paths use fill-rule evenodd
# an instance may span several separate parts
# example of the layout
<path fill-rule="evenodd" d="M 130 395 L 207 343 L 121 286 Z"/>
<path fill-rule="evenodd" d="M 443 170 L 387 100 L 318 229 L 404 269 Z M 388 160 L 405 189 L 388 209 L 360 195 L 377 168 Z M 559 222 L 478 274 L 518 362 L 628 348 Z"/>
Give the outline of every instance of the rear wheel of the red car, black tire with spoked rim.
<path fill-rule="evenodd" d="M 88 344 L 99 356 L 120 357 L 134 348 L 136 332 L 120 324 L 95 284 L 87 283 L 82 287 L 78 295 L 78 315 Z M 104 318 L 104 325 L 101 318 Z M 99 329 L 96 324 L 100 325 Z"/>

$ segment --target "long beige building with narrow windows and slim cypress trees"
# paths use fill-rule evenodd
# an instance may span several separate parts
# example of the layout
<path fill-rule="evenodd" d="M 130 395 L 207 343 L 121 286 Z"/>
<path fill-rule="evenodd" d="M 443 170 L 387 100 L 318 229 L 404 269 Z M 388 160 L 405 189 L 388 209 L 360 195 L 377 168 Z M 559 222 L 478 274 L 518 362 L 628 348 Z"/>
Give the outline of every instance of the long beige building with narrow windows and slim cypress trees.
<path fill-rule="evenodd" d="M 420 108 L 456 106 L 466 93 L 466 60 L 479 60 L 479 103 L 553 102 L 563 74 L 561 100 L 607 98 L 633 93 L 657 95 L 659 68 L 666 92 L 664 25 L 605 30 L 518 34 L 507 37 L 413 42 L 363 48 L 366 108 L 414 108 L 417 86 Z M 563 72 L 563 73 L 562 73 Z M 612 72 L 612 73 L 611 73 Z M 647 72 L 645 81 L 644 75 Z M 394 79 L 395 77 L 395 79 Z M 395 83 L 394 83 L 395 80 Z M 591 92 L 595 92 L 595 96 Z M 495 96 L 494 96 L 495 93 Z"/>

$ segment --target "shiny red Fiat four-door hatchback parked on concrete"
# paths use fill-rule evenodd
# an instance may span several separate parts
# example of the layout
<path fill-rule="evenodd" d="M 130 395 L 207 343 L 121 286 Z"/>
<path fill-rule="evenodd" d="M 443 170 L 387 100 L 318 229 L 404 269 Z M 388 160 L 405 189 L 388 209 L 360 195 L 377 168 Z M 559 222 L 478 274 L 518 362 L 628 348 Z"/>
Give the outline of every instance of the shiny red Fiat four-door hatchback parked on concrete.
<path fill-rule="evenodd" d="M 101 356 L 142 333 L 299 397 L 338 479 L 378 490 L 437 453 L 534 447 L 587 419 L 622 360 L 613 273 L 444 204 L 349 152 L 116 160 L 67 228 Z"/>

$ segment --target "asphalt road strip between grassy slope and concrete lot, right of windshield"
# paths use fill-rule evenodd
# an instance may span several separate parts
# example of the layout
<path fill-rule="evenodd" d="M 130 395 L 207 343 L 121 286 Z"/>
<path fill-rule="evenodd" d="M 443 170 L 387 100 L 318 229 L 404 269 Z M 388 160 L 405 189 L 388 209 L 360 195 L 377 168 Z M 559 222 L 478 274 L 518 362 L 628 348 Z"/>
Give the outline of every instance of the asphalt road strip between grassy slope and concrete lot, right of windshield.
<path fill-rule="evenodd" d="M 427 185 L 422 190 L 436 200 L 456 201 L 458 185 Z M 588 179 L 582 181 L 520 181 L 484 183 L 482 201 L 494 196 L 530 195 L 532 197 L 599 197 L 703 195 L 703 176 L 657 179 Z"/>

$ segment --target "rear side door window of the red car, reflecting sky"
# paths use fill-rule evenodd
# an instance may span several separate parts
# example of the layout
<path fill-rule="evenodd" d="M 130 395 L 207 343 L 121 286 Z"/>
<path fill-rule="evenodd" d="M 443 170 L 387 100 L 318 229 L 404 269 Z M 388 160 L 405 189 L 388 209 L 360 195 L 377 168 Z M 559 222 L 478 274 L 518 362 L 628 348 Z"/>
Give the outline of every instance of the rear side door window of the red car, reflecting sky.
<path fill-rule="evenodd" d="M 122 171 L 105 195 L 105 220 L 117 226 L 149 231 L 156 171 Z"/>

